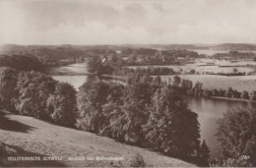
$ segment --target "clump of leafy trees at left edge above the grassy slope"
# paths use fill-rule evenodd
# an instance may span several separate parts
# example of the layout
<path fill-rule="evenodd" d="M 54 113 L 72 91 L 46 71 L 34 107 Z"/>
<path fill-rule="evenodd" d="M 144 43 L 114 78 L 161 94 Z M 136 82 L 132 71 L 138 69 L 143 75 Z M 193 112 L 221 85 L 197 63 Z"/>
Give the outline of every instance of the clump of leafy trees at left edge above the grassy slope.
<path fill-rule="evenodd" d="M 0 69 L 0 109 L 75 127 L 76 90 L 40 72 Z"/>

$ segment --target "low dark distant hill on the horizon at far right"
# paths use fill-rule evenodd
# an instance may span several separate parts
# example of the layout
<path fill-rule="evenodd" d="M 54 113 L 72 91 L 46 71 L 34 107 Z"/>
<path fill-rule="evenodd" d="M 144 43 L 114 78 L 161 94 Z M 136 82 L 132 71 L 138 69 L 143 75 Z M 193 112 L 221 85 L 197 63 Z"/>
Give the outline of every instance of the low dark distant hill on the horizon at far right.
<path fill-rule="evenodd" d="M 236 51 L 250 51 L 256 50 L 256 45 L 247 43 L 224 43 L 211 47 L 215 50 L 236 50 Z"/>

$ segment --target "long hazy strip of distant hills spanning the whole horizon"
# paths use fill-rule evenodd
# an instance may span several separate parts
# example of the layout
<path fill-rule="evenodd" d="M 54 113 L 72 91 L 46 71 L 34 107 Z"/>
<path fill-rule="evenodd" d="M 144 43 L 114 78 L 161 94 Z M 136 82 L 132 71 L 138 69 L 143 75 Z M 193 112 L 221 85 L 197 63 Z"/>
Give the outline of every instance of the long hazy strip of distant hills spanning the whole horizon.
<path fill-rule="evenodd" d="M 130 51 L 128 51 L 130 49 Z M 30 54 L 40 61 L 45 60 L 72 60 L 88 58 L 96 55 L 117 54 L 117 52 L 152 55 L 156 50 L 256 50 L 255 44 L 224 43 L 224 44 L 112 44 L 112 45 L 0 45 L 0 54 L 24 55 Z M 136 54 L 137 55 L 137 54 Z"/>

